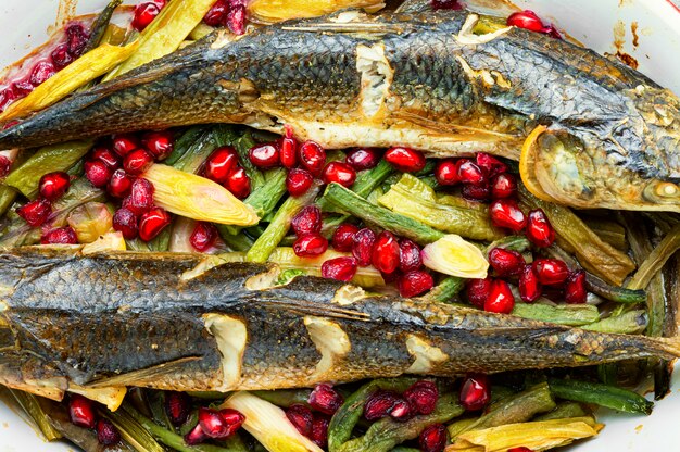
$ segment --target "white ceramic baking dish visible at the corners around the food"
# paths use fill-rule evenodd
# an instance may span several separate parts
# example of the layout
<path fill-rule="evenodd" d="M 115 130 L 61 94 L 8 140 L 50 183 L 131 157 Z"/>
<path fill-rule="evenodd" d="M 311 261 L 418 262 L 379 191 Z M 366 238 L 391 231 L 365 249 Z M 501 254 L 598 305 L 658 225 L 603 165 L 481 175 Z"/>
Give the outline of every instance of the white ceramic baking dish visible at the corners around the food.
<path fill-rule="evenodd" d="M 106 0 L 80 0 L 76 11 L 98 11 Z M 133 1 L 127 1 L 133 2 Z M 136 1 L 134 1 L 136 2 Z M 22 58 L 47 37 L 62 4 L 74 0 L 0 0 L 0 67 Z M 680 95 L 680 10 L 668 0 L 517 0 L 596 51 L 628 53 L 639 70 Z M 633 23 L 638 45 L 633 45 Z M 618 34 L 618 35 L 617 35 Z M 622 35 L 618 47 L 615 37 Z M 603 413 L 606 428 L 599 438 L 572 451 L 680 451 L 680 373 L 673 391 L 656 405 L 648 417 Z M 46 443 L 36 432 L 0 403 L 0 451 L 65 451 L 65 443 Z"/>

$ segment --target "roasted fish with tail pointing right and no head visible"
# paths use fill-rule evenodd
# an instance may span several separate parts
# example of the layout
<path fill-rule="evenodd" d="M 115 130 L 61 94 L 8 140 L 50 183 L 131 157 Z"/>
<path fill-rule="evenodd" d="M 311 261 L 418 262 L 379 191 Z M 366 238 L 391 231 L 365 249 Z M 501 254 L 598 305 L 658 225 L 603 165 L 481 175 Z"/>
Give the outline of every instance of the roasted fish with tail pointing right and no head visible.
<path fill-rule="evenodd" d="M 402 374 L 680 356 L 680 339 L 605 335 L 191 254 L 0 254 L 0 382 L 66 390 L 274 389 Z M 214 259 L 214 258 L 213 258 Z M 201 269 L 202 268 L 202 269 Z"/>

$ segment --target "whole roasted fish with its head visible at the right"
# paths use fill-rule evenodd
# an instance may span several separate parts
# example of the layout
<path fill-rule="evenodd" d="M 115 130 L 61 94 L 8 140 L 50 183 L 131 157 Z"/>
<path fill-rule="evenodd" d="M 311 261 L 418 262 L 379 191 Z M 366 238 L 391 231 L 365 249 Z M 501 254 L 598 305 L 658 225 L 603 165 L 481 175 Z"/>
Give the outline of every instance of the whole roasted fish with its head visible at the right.
<path fill-rule="evenodd" d="M 675 95 L 591 50 L 465 11 L 343 11 L 237 40 L 216 32 L 0 131 L 0 148 L 217 122 L 438 156 L 517 160 L 524 143 L 522 179 L 545 200 L 680 211 Z"/>

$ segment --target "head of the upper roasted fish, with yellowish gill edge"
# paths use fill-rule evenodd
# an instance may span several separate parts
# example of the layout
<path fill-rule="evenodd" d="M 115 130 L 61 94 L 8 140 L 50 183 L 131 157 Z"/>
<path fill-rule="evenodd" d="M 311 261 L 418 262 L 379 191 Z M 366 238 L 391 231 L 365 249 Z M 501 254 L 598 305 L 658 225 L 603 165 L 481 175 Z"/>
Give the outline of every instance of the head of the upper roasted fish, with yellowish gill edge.
<path fill-rule="evenodd" d="M 622 117 L 529 134 L 519 164 L 529 191 L 578 209 L 680 212 L 680 101 L 660 88 L 627 91 Z"/>

